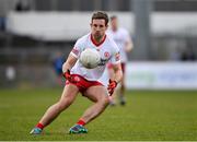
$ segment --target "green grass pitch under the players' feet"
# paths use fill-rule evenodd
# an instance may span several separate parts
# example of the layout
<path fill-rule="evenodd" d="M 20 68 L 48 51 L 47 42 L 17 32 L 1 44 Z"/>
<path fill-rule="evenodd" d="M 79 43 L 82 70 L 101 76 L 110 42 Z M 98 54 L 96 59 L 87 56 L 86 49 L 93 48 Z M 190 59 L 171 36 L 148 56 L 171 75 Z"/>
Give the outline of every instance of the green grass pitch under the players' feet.
<path fill-rule="evenodd" d="M 43 135 L 28 132 L 59 99 L 61 88 L 1 90 L 0 140 L 130 141 L 197 140 L 197 92 L 130 91 L 125 107 L 108 107 L 86 126 L 88 134 L 68 134 L 91 102 L 81 95 Z"/>

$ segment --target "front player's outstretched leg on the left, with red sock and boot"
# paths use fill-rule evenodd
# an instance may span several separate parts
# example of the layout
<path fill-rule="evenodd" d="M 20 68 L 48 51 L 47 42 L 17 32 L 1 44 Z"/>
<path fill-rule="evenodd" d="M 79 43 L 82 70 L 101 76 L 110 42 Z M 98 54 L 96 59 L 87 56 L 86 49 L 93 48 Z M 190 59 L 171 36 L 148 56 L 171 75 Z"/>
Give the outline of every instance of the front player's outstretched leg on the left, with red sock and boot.
<path fill-rule="evenodd" d="M 42 117 L 37 126 L 31 131 L 31 133 L 39 134 L 44 127 L 48 126 L 62 110 L 72 104 L 78 93 L 79 88 L 76 85 L 66 85 L 61 98 L 47 109 L 45 115 Z"/>

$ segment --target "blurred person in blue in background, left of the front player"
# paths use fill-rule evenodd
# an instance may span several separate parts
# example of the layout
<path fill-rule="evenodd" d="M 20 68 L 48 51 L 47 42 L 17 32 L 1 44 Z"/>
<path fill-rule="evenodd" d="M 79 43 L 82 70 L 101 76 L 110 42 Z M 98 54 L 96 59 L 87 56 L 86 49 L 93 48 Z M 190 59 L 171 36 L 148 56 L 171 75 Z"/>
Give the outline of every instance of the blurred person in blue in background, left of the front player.
<path fill-rule="evenodd" d="M 56 73 L 56 81 L 59 85 L 62 85 L 62 64 L 65 62 L 65 58 L 62 57 L 60 51 L 56 52 L 56 57 L 53 61 L 54 71 Z"/>

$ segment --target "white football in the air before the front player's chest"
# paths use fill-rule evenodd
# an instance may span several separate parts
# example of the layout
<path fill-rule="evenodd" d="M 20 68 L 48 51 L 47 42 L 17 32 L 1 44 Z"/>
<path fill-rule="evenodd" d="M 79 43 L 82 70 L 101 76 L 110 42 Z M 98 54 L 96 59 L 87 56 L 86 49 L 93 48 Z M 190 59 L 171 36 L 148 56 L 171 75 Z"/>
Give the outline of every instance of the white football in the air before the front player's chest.
<path fill-rule="evenodd" d="M 94 69 L 101 61 L 100 54 L 96 49 L 84 49 L 80 55 L 80 62 L 88 69 Z"/>

